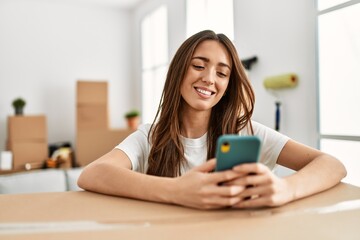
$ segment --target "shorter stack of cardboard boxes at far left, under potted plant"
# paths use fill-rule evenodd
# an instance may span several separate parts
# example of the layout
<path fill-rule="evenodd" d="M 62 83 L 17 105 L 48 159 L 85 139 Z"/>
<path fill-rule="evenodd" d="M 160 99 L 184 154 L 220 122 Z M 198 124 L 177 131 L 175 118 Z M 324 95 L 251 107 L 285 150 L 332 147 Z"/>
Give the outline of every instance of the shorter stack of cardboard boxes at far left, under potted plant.
<path fill-rule="evenodd" d="M 7 149 L 12 152 L 14 170 L 24 170 L 27 163 L 44 163 L 48 158 L 46 117 L 8 117 Z"/>

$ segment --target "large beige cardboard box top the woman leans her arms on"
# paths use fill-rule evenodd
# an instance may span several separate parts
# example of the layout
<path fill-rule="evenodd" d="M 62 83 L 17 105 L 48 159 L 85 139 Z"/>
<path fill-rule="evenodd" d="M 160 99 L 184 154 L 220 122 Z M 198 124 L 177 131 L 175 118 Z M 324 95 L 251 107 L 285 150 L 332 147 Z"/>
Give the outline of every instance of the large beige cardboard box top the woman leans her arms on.
<path fill-rule="evenodd" d="M 90 192 L 2 195 L 0 239 L 359 239 L 359 199 L 360 188 L 347 184 L 256 210 L 200 211 Z"/>

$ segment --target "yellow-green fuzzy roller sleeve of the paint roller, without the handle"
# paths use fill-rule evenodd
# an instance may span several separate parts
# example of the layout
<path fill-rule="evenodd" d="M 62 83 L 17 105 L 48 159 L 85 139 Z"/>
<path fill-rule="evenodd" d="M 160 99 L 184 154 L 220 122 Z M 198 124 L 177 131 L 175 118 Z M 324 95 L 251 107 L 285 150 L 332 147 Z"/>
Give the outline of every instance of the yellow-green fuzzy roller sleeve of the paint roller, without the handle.
<path fill-rule="evenodd" d="M 266 89 L 293 88 L 297 86 L 298 82 L 296 74 L 288 73 L 265 78 L 264 87 Z"/>

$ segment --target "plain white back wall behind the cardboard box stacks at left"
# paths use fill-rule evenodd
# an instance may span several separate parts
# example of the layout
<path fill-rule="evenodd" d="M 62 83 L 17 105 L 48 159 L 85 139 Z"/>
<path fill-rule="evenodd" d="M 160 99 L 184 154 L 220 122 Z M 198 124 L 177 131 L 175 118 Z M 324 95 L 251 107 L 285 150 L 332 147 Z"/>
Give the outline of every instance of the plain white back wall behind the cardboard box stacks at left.
<path fill-rule="evenodd" d="M 107 80 L 110 125 L 125 126 L 123 114 L 133 107 L 130 23 L 120 9 L 0 0 L 0 150 L 19 96 L 25 114 L 47 116 L 50 143 L 74 143 L 78 79 Z"/>

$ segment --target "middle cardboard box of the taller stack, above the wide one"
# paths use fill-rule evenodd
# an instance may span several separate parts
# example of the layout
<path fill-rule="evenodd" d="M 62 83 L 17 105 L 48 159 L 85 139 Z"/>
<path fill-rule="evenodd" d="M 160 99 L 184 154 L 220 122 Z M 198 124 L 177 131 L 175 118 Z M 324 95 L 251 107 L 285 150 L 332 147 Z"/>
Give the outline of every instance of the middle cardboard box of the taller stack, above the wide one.
<path fill-rule="evenodd" d="M 78 105 L 76 119 L 77 131 L 108 129 L 109 118 L 107 105 Z"/>

